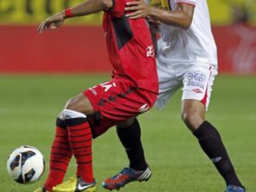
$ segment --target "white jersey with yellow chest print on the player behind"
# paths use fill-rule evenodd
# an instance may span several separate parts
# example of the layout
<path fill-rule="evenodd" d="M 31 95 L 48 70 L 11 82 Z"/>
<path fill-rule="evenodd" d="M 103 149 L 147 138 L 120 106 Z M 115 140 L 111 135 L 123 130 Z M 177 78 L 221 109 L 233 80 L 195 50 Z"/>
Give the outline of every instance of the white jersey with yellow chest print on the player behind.
<path fill-rule="evenodd" d="M 176 3 L 195 6 L 194 18 L 189 29 L 166 24 L 160 25 L 158 60 L 166 63 L 200 62 L 218 68 L 216 43 L 211 32 L 207 0 L 151 0 L 150 5 L 165 10 L 175 10 Z"/>

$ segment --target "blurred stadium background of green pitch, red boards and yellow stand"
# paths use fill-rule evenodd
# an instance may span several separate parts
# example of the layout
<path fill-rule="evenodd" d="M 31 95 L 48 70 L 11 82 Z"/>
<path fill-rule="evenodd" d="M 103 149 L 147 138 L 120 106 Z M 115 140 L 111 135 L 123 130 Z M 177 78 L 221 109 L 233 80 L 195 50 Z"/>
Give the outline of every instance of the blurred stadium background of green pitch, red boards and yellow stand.
<path fill-rule="evenodd" d="M 0 187 L 32 191 L 6 173 L 12 149 L 30 144 L 49 158 L 56 114 L 67 99 L 109 80 L 101 14 L 70 19 L 65 27 L 36 33 L 41 20 L 82 0 L 0 0 Z M 256 1 L 208 0 L 218 45 L 219 72 L 208 119 L 218 127 L 249 192 L 256 191 Z M 68 74 L 67 74 L 68 73 Z M 140 117 L 154 176 L 123 191 L 216 192 L 224 183 L 179 117 L 177 93 L 167 109 Z M 95 141 L 95 177 L 127 164 L 114 129 Z M 48 168 L 48 167 L 46 167 Z M 74 163 L 70 165 L 72 174 Z M 43 176 L 40 184 L 46 177 Z M 207 176 L 207 177 L 206 177 Z M 104 191 L 100 185 L 98 191 Z"/>

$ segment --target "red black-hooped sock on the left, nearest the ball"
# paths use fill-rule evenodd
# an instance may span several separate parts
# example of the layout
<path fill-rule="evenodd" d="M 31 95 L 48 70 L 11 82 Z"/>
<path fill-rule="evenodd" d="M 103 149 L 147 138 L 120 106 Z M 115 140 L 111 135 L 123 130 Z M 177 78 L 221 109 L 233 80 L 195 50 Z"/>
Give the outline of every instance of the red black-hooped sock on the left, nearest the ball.
<path fill-rule="evenodd" d="M 68 132 L 64 121 L 57 119 L 56 126 L 56 135 L 53 141 L 53 146 L 51 147 L 50 170 L 45 183 L 47 191 L 51 191 L 53 186 L 63 182 L 67 167 L 72 157 Z"/>

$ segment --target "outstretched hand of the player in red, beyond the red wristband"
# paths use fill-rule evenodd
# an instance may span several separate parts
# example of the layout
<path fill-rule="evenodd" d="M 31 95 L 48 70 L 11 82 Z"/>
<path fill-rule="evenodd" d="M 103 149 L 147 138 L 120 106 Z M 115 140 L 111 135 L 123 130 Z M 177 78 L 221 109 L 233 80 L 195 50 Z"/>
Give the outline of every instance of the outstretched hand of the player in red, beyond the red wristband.
<path fill-rule="evenodd" d="M 61 25 L 64 23 L 64 20 L 64 13 L 60 12 L 41 22 L 41 24 L 37 28 L 37 31 L 39 33 L 43 33 L 43 31 L 48 29 L 55 30 L 56 28 L 61 27 Z"/>

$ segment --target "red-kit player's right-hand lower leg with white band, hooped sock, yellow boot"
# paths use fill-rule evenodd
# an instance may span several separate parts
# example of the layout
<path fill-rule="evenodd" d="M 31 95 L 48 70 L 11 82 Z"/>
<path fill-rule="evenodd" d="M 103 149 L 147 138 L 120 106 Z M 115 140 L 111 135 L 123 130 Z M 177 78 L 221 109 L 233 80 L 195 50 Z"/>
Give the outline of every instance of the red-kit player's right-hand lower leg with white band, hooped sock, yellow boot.
<path fill-rule="evenodd" d="M 69 105 L 67 104 L 66 108 Z M 80 107 L 81 105 L 83 103 L 73 103 L 73 106 Z M 77 174 L 67 182 L 55 186 L 53 192 L 93 192 L 96 190 L 96 183 L 92 167 L 92 130 L 87 116 L 78 111 L 64 109 L 59 118 L 65 122 L 67 127 L 70 148 L 77 162 Z"/>

